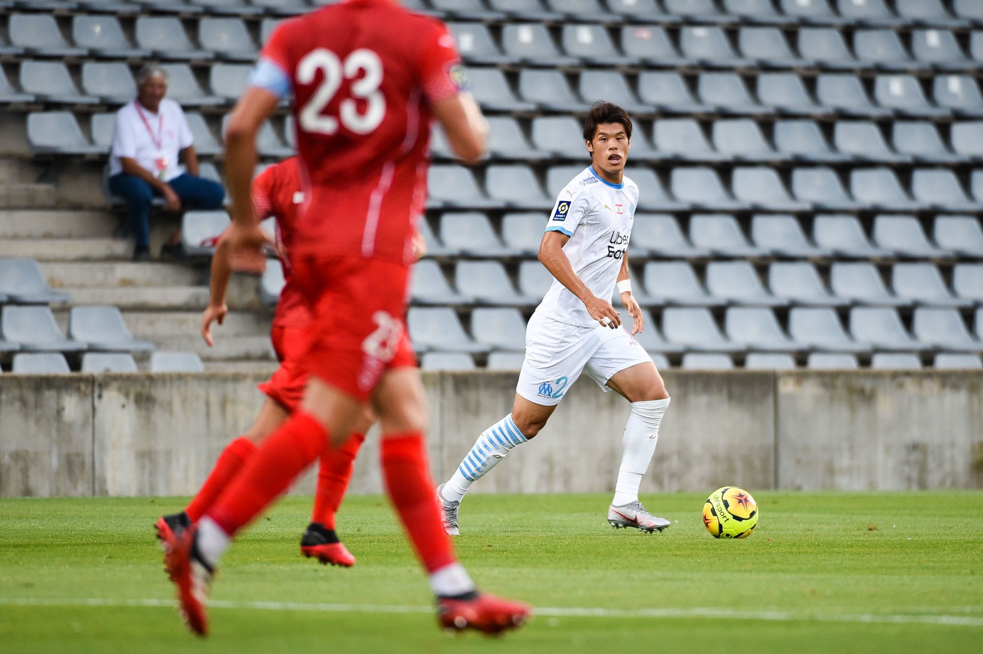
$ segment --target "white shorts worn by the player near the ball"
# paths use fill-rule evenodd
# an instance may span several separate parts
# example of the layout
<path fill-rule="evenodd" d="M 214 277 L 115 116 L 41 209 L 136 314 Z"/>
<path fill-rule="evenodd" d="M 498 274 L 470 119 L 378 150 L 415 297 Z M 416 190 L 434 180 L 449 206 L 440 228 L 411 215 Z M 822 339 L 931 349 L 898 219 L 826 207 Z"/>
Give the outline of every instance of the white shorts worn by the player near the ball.
<path fill-rule="evenodd" d="M 578 327 L 533 313 L 526 327 L 526 358 L 515 392 L 537 405 L 553 407 L 581 372 L 605 391 L 607 380 L 652 361 L 624 327 Z"/>

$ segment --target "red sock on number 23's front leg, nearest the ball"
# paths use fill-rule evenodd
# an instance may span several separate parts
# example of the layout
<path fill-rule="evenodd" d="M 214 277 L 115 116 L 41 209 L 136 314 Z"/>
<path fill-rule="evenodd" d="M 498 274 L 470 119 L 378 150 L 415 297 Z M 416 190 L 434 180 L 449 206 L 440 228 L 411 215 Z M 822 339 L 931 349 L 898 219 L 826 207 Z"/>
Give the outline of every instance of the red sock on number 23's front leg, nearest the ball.
<path fill-rule="evenodd" d="M 423 433 L 383 437 L 379 454 L 389 501 L 427 572 L 455 563 L 454 548 L 440 522 Z"/>

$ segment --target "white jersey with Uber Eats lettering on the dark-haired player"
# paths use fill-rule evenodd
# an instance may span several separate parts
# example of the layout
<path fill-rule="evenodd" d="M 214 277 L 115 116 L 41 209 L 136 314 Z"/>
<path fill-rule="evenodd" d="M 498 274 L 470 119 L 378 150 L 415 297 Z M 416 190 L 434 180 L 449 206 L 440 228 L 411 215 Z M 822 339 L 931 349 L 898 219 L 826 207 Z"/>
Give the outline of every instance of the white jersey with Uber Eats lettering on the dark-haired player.
<path fill-rule="evenodd" d="M 546 231 L 570 237 L 563 253 L 573 272 L 598 298 L 610 300 L 614 293 L 637 205 L 634 182 L 624 177 L 621 184 L 611 184 L 595 175 L 593 166 L 559 191 L 553 205 Z M 536 310 L 569 325 L 598 325 L 584 302 L 555 279 Z"/>

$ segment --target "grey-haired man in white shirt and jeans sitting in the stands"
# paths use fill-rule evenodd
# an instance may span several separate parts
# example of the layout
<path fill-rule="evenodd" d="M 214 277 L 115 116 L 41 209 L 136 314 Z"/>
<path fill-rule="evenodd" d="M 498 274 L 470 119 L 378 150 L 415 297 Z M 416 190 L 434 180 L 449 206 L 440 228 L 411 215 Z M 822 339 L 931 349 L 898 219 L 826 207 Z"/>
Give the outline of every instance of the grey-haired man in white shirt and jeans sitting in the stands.
<path fill-rule="evenodd" d="M 137 78 L 137 99 L 116 112 L 109 158 L 109 191 L 126 200 L 136 237 L 134 261 L 150 257 L 147 216 L 154 195 L 162 196 L 167 211 L 218 209 L 225 199 L 222 185 L 198 177 L 198 155 L 184 111 L 167 93 L 167 73 L 145 66 Z M 184 157 L 185 169 L 178 165 Z M 178 230 L 160 250 L 161 256 L 181 254 Z"/>

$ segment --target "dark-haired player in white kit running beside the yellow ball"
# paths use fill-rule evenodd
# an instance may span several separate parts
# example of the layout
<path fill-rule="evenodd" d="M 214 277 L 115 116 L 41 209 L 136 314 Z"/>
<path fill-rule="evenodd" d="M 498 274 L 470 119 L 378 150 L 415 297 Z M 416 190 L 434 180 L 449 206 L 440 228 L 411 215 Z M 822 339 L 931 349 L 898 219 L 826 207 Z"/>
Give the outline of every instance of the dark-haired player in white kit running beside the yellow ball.
<path fill-rule="evenodd" d="M 596 103 L 587 115 L 591 165 L 559 192 L 543 235 L 539 258 L 554 279 L 526 328 L 512 412 L 486 429 L 453 476 L 437 487 L 449 534 L 458 533 L 458 508 L 471 484 L 540 433 L 581 372 L 631 403 L 607 521 L 649 533 L 669 525 L 638 501 L 669 397 L 652 357 L 633 338 L 644 325 L 628 279 L 628 239 L 638 205 L 638 187 L 624 176 L 631 129 L 628 114 L 614 104 Z M 634 321 L 631 334 L 607 301 L 615 285 Z"/>

